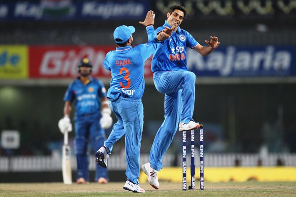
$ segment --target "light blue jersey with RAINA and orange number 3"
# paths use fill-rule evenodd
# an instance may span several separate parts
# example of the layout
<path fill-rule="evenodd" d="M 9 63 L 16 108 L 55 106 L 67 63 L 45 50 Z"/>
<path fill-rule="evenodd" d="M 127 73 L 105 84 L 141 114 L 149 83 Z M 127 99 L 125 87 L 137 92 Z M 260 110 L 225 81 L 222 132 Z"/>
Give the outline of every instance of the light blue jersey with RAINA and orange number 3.
<path fill-rule="evenodd" d="M 111 84 L 107 98 L 116 100 L 119 96 L 141 99 L 145 89 L 144 62 L 152 55 L 157 47 L 152 26 L 146 28 L 148 36 L 153 37 L 149 42 L 134 48 L 131 46 L 117 47 L 107 53 L 103 62 L 106 69 L 111 70 Z"/>

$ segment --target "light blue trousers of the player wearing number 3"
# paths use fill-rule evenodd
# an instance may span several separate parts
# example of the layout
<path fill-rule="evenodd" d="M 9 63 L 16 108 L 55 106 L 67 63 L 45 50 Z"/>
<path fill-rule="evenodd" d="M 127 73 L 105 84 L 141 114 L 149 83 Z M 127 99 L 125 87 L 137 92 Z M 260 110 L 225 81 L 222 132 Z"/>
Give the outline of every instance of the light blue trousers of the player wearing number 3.
<path fill-rule="evenodd" d="M 104 142 L 112 151 L 113 144 L 125 134 L 125 154 L 127 179 L 139 184 L 140 175 L 140 149 L 143 132 L 144 108 L 141 99 L 119 97 L 116 101 L 110 101 L 110 108 L 117 118 L 117 123 Z"/>

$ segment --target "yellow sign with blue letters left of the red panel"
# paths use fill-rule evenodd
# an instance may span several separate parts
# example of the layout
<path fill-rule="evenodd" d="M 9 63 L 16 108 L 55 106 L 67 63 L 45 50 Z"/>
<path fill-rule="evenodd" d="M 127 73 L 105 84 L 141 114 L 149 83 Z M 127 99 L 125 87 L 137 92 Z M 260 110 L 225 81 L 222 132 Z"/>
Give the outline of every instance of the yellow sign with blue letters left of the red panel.
<path fill-rule="evenodd" d="M 28 78 L 28 46 L 0 45 L 0 79 Z"/>

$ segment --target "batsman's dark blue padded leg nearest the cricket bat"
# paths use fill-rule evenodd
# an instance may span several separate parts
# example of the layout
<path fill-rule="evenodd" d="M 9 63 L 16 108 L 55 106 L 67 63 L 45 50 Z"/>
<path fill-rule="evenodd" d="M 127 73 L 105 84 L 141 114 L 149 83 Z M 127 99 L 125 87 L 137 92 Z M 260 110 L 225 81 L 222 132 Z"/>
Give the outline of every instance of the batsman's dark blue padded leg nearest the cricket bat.
<path fill-rule="evenodd" d="M 84 117 L 81 119 L 75 119 L 75 144 L 74 144 L 74 153 L 76 154 L 77 161 L 77 183 L 85 183 L 89 181 L 89 172 L 88 172 L 88 155 L 87 155 L 87 142 L 88 142 L 88 125 L 84 120 Z M 83 180 L 84 179 L 84 180 Z"/>

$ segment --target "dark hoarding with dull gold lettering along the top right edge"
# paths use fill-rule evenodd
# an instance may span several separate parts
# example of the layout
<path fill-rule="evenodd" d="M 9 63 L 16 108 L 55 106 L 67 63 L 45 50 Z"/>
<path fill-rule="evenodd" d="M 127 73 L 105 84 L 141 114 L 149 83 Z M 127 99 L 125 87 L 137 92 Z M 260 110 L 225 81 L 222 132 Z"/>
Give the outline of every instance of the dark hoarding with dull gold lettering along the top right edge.
<path fill-rule="evenodd" d="M 173 4 L 168 0 L 151 0 L 155 13 L 166 15 Z M 186 20 L 294 20 L 295 0 L 175 0 L 187 12 Z"/>

